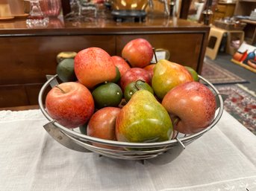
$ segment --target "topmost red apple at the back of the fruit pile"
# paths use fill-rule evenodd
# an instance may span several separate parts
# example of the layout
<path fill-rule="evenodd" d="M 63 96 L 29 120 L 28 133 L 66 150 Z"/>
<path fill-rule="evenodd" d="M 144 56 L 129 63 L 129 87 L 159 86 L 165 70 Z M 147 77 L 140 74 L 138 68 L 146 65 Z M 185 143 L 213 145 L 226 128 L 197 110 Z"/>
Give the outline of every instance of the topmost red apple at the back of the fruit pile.
<path fill-rule="evenodd" d="M 133 39 L 122 49 L 122 57 L 127 59 L 133 68 L 144 68 L 152 61 L 154 51 L 146 39 Z"/>

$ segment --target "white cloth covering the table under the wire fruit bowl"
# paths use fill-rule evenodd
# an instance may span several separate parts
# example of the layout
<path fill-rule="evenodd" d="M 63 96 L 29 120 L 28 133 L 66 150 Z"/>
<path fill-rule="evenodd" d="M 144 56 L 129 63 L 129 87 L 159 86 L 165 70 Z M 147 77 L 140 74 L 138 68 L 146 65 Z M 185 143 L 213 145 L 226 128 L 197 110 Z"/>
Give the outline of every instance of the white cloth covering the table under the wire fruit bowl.
<path fill-rule="evenodd" d="M 256 190 L 256 136 L 225 111 L 165 165 L 66 149 L 46 122 L 39 110 L 0 111 L 0 190 Z"/>

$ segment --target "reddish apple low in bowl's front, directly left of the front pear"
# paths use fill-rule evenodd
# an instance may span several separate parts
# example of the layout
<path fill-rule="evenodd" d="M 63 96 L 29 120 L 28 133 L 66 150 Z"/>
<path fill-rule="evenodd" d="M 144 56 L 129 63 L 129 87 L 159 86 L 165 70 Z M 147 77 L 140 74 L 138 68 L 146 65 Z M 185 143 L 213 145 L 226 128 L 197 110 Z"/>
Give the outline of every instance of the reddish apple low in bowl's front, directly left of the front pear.
<path fill-rule="evenodd" d="M 105 140 L 116 140 L 116 117 L 121 109 L 115 107 L 105 107 L 96 111 L 90 118 L 87 126 L 87 135 Z M 100 143 L 93 143 L 107 149 L 116 149 L 115 146 L 107 146 Z"/>

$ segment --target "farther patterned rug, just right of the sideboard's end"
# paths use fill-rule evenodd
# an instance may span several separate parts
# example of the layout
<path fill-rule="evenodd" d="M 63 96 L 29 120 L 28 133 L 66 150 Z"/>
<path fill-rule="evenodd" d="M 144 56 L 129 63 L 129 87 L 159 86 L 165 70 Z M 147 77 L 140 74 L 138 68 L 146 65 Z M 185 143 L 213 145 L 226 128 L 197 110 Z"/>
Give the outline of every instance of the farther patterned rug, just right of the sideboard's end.
<path fill-rule="evenodd" d="M 247 82 L 243 78 L 238 77 L 236 74 L 216 65 L 208 59 L 204 62 L 201 75 L 215 85 Z"/>

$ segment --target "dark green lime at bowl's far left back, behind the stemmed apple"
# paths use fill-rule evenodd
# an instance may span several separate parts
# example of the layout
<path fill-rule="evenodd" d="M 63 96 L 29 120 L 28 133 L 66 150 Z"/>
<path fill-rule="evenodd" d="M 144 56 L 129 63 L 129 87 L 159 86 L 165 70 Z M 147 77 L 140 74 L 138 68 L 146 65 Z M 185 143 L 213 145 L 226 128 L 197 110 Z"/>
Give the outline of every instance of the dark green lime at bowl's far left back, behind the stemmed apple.
<path fill-rule="evenodd" d="M 74 59 L 63 59 L 57 64 L 56 71 L 62 82 L 74 82 L 77 80 L 74 71 Z"/>

